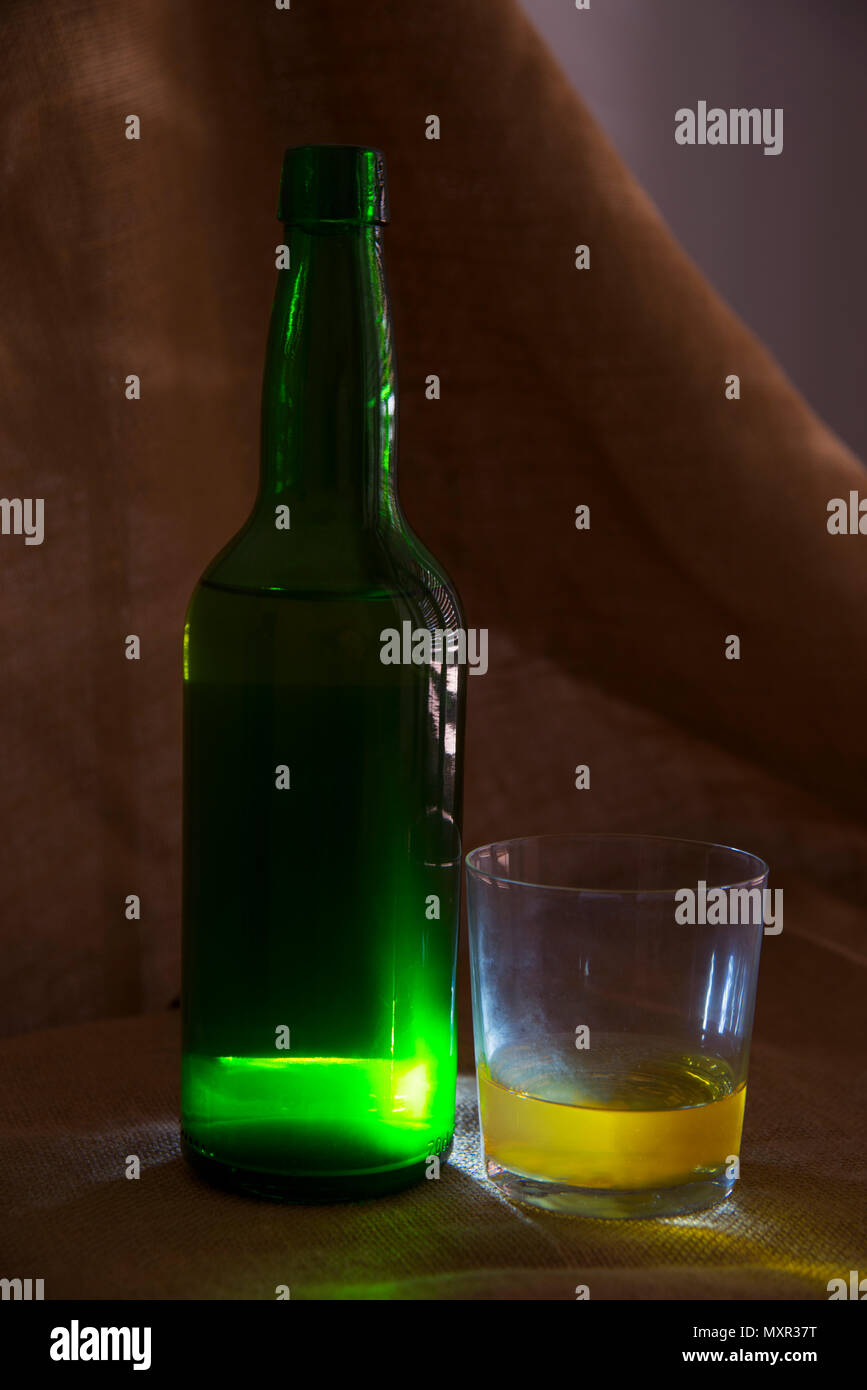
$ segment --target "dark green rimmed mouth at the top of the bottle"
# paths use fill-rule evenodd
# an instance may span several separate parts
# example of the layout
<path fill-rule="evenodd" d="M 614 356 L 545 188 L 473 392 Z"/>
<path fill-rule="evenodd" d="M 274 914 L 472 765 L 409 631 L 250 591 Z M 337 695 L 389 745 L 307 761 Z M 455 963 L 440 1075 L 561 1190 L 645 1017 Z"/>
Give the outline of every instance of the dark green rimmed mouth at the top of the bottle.
<path fill-rule="evenodd" d="M 385 154 L 365 145 L 293 145 L 283 154 L 276 215 L 290 227 L 382 227 Z"/>

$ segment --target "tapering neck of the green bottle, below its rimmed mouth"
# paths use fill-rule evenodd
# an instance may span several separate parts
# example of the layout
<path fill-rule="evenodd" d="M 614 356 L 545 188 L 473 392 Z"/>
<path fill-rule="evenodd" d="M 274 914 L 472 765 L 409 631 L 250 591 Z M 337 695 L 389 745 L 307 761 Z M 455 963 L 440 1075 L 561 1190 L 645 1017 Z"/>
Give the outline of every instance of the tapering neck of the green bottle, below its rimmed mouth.
<path fill-rule="evenodd" d="M 396 382 L 382 228 L 286 227 L 263 388 L 258 505 L 292 530 L 397 514 Z"/>

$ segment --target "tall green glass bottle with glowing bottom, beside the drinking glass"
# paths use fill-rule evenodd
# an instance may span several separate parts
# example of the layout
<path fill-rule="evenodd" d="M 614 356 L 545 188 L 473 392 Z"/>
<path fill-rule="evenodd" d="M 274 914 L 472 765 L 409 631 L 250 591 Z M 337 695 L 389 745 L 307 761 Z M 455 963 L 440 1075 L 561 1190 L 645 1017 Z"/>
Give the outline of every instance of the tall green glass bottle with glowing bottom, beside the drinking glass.
<path fill-rule="evenodd" d="M 288 150 L 279 215 L 260 491 L 185 628 L 182 1140 L 336 1201 L 452 1143 L 467 671 L 383 659 L 463 620 L 397 500 L 382 154 Z"/>

